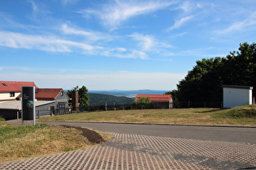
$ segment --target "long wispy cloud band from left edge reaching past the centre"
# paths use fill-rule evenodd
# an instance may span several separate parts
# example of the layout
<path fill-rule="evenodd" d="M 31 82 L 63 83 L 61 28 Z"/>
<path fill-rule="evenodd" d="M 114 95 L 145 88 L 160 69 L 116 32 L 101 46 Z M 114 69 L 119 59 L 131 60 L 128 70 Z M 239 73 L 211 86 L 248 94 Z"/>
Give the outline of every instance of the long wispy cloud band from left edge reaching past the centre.
<path fill-rule="evenodd" d="M 80 32 L 85 33 L 86 32 Z M 15 49 L 36 49 L 47 52 L 82 53 L 106 57 L 147 59 L 148 55 L 136 49 L 123 47 L 110 48 L 88 45 L 72 40 L 63 40 L 54 36 L 32 36 L 15 32 L 0 32 L 0 46 Z"/>

